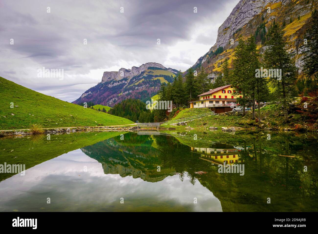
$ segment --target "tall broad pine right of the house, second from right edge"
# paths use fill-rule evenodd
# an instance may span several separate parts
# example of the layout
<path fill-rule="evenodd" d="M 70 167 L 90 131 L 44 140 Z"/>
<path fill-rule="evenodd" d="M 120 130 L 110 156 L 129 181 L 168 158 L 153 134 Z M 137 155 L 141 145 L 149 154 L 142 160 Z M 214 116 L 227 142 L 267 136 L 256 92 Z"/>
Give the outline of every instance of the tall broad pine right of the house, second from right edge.
<path fill-rule="evenodd" d="M 294 90 L 297 69 L 291 55 L 286 51 L 284 32 L 278 24 L 274 23 L 268 34 L 269 40 L 266 42 L 267 48 L 264 54 L 265 66 L 266 69 L 281 69 L 281 78 L 270 77 L 270 80 L 278 97 L 283 100 L 284 122 L 288 122 L 287 99 Z"/>

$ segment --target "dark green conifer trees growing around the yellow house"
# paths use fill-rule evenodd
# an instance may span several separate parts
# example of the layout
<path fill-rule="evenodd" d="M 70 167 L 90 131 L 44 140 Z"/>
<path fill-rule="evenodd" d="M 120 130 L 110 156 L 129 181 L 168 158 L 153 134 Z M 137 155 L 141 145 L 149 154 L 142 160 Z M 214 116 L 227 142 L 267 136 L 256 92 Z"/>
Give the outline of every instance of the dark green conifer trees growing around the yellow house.
<path fill-rule="evenodd" d="M 281 103 L 284 112 L 284 122 L 288 122 L 287 103 L 294 97 L 309 96 L 314 99 L 310 108 L 304 112 L 304 118 L 312 121 L 312 116 L 318 116 L 318 13 L 312 11 L 309 26 L 305 32 L 306 44 L 302 52 L 304 56 L 303 72 L 299 73 L 295 66 L 295 56 L 290 52 L 283 28 L 275 23 L 269 26 L 268 31 L 263 25 L 246 40 L 239 38 L 232 61 L 233 68 L 229 67 L 228 59 L 222 64 L 215 83 L 211 83 L 204 68 L 194 71 L 191 67 L 183 78 L 178 74 L 172 83 L 163 83 L 158 91 L 159 100 L 172 100 L 176 108 L 189 107 L 191 100 L 198 100 L 197 95 L 216 87 L 231 84 L 235 92 L 242 94 L 237 98 L 239 105 L 245 107 L 249 103 L 276 101 Z M 255 38 L 256 37 L 256 38 Z M 265 40 L 266 38 L 266 40 Z M 303 40 L 303 38 L 300 38 Z M 265 52 L 257 49 L 257 41 L 262 40 L 266 46 Z M 303 40 L 305 41 L 305 40 Z M 217 53 L 223 50 L 218 49 Z M 261 67 L 280 71 L 280 77 L 264 74 L 258 76 L 256 71 Z M 278 75 L 278 74 L 277 74 Z M 166 110 L 154 110 L 154 120 L 168 119 Z M 243 108 L 243 115 L 245 109 Z M 252 119 L 260 122 L 255 113 L 255 103 L 252 106 Z"/>

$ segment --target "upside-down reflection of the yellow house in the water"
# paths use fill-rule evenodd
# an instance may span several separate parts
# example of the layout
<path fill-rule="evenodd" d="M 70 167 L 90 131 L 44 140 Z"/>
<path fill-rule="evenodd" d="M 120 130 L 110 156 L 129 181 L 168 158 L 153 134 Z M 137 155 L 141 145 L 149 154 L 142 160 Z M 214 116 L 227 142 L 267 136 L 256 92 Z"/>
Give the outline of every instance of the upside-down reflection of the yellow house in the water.
<path fill-rule="evenodd" d="M 201 159 L 212 161 L 215 164 L 240 163 L 239 152 L 244 151 L 242 146 L 230 146 L 218 144 L 219 148 L 197 148 L 191 147 L 191 151 L 201 156 Z M 246 147 L 246 150 L 250 147 Z M 252 155 L 250 155 L 252 156 Z"/>

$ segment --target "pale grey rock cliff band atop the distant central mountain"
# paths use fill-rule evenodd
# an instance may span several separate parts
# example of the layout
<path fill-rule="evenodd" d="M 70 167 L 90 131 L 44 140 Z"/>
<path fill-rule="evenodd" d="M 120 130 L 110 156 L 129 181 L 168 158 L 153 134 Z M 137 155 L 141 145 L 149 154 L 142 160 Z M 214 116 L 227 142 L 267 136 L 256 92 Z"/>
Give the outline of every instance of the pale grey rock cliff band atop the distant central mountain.
<path fill-rule="evenodd" d="M 142 72 L 146 71 L 148 67 L 159 67 L 162 69 L 167 69 L 159 63 L 145 63 L 140 67 L 133 66 L 131 69 L 121 68 L 118 72 L 104 72 L 101 82 L 107 82 L 110 80 L 121 80 L 123 78 L 132 78 L 136 75 L 140 75 Z"/>

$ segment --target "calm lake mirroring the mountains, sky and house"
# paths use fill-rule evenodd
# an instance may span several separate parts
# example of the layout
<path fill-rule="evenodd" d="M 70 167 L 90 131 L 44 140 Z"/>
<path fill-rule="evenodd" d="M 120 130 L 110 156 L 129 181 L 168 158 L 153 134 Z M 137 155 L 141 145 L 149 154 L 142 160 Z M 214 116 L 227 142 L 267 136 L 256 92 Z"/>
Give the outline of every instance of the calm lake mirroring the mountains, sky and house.
<path fill-rule="evenodd" d="M 0 211 L 318 211 L 318 134 L 194 134 L 0 138 Z"/>

